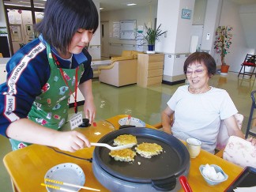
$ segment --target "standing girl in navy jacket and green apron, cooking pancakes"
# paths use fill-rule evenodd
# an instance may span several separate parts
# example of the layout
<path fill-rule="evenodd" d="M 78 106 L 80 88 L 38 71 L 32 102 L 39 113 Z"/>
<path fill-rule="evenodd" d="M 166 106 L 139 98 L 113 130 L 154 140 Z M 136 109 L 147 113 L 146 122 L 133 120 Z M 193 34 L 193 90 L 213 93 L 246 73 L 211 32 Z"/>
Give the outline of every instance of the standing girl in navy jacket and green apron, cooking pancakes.
<path fill-rule="evenodd" d="M 85 135 L 58 129 L 77 87 L 85 97 L 85 118 L 95 118 L 92 57 L 85 47 L 98 24 L 92 0 L 47 0 L 43 21 L 35 25 L 40 36 L 10 58 L 0 85 L 0 134 L 9 137 L 13 150 L 31 143 L 70 152 L 90 147 Z"/>

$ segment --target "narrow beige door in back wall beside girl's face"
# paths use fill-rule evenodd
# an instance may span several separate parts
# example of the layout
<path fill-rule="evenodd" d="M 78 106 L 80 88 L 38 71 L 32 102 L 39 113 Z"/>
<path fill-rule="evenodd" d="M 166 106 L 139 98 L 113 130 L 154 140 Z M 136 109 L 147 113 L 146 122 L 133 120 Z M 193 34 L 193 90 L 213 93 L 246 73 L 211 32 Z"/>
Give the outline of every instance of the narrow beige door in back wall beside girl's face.
<path fill-rule="evenodd" d="M 109 28 L 108 28 L 108 21 L 100 22 L 101 24 L 101 57 L 102 58 L 109 58 Z"/>

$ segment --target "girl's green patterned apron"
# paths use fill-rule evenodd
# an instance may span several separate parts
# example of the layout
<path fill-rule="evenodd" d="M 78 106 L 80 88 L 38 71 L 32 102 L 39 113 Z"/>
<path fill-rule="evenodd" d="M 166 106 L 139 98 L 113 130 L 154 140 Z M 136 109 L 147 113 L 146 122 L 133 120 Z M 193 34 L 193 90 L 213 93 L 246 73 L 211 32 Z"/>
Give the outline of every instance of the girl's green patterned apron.
<path fill-rule="evenodd" d="M 51 55 L 51 47 L 47 43 L 47 57 L 51 68 L 51 75 L 47 83 L 42 88 L 40 96 L 32 104 L 31 111 L 28 113 L 28 119 L 37 122 L 42 126 L 47 126 L 53 130 L 61 128 L 68 118 L 68 108 L 71 92 L 75 91 L 76 69 L 62 69 L 62 74 Z M 79 66 L 77 70 L 77 81 L 79 82 L 81 74 L 84 71 L 84 65 Z M 63 78 L 66 78 L 66 82 Z M 21 129 L 22 131 L 22 129 Z M 9 139 L 13 150 L 24 148 L 29 143 Z"/>

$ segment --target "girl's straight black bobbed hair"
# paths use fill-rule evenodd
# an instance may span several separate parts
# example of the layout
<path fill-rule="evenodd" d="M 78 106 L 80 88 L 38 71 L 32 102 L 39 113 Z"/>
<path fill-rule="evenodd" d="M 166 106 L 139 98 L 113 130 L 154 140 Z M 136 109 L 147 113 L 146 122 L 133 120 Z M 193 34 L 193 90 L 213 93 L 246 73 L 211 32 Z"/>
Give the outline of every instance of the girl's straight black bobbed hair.
<path fill-rule="evenodd" d="M 51 46 L 66 54 L 77 29 L 96 32 L 99 15 L 92 0 L 47 0 L 43 20 L 34 26 Z"/>

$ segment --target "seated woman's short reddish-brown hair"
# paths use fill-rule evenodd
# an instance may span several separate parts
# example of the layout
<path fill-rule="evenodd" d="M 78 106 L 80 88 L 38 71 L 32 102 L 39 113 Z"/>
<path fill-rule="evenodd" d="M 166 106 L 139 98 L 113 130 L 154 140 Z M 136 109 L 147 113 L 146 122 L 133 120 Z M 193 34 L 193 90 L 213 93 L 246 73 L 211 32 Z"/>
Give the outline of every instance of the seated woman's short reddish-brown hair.
<path fill-rule="evenodd" d="M 209 77 L 216 73 L 216 62 L 211 55 L 205 52 L 194 52 L 193 54 L 189 55 L 184 62 L 183 71 L 185 74 L 187 67 L 194 62 L 204 64 L 206 66 Z"/>

